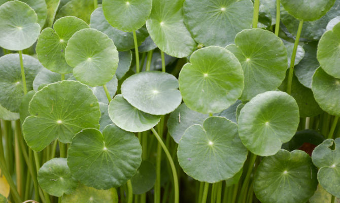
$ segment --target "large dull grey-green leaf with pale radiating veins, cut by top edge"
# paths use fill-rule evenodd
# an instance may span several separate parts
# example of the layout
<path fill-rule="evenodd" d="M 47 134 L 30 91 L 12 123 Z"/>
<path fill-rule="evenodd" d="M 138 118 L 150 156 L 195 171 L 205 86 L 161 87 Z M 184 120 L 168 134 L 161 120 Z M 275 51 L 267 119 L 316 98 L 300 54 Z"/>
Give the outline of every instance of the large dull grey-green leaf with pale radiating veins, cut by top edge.
<path fill-rule="evenodd" d="M 250 0 L 186 0 L 184 22 L 196 42 L 225 47 L 238 32 L 251 27 L 253 4 Z"/>

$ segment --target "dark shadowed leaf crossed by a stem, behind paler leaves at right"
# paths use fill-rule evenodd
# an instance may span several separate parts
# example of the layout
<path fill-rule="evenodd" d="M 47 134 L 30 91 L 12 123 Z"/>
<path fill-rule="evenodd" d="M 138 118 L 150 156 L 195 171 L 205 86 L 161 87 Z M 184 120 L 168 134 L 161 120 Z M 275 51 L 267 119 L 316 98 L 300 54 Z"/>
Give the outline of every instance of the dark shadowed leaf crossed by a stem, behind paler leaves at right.
<path fill-rule="evenodd" d="M 279 89 L 282 91 L 287 90 L 288 72 L 289 71 L 287 71 L 285 80 L 279 87 Z M 317 116 L 322 112 L 318 103 L 315 101 L 312 90 L 310 88 L 303 86 L 294 75 L 292 78 L 290 95 L 294 97 L 297 106 L 299 107 L 300 117 L 302 118 L 313 117 Z"/>

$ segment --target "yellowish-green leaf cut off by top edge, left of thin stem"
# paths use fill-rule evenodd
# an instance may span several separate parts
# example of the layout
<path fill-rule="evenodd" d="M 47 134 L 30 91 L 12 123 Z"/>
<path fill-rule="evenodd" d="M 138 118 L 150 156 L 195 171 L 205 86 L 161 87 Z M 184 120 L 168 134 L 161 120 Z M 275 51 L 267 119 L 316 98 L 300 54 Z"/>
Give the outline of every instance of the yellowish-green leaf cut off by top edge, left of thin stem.
<path fill-rule="evenodd" d="M 61 3 L 60 3 L 61 5 Z M 76 16 L 85 22 L 90 22 L 90 15 L 94 10 L 93 0 L 69 0 L 64 4 L 55 19 L 64 16 Z"/>

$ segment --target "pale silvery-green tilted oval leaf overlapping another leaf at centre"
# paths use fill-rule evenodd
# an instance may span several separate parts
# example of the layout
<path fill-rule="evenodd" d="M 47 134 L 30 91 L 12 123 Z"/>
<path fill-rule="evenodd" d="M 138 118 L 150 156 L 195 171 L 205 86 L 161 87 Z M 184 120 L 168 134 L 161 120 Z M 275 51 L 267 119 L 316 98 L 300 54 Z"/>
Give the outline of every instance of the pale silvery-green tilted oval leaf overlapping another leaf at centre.
<path fill-rule="evenodd" d="M 177 79 L 168 73 L 142 72 L 127 78 L 121 87 L 123 97 L 133 107 L 148 114 L 173 112 L 182 101 Z"/>

